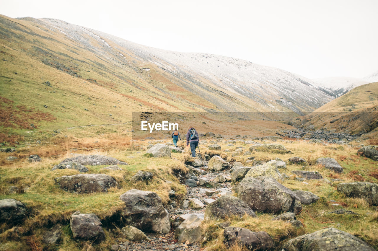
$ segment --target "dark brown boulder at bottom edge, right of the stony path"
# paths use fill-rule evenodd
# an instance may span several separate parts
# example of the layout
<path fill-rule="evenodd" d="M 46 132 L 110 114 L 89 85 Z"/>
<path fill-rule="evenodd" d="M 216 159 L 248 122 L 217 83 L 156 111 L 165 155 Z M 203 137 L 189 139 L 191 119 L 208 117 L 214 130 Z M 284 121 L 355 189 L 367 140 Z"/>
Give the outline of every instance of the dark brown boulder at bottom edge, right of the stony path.
<path fill-rule="evenodd" d="M 239 244 L 249 250 L 268 250 L 274 248 L 273 239 L 267 232 L 252 232 L 246 228 L 229 226 L 223 232 L 223 243 L 228 246 Z"/>

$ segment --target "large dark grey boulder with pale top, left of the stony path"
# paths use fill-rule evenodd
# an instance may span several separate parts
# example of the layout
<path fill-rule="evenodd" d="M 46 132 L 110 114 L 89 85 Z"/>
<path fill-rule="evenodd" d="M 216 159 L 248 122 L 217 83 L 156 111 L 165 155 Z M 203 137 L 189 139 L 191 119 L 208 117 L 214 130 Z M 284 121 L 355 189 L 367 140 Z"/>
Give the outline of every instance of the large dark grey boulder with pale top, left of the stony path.
<path fill-rule="evenodd" d="M 155 192 L 131 189 L 119 198 L 125 203 L 121 214 L 127 225 L 143 232 L 169 233 L 169 214 Z"/>

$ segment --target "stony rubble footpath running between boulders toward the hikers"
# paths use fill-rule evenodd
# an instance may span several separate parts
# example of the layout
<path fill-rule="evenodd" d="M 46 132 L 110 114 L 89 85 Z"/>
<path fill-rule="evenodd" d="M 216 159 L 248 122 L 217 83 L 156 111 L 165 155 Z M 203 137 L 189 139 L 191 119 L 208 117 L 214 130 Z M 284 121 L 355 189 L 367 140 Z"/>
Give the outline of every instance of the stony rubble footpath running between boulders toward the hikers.
<path fill-rule="evenodd" d="M 208 164 L 206 161 L 203 161 L 205 166 L 203 169 L 208 170 Z M 192 173 L 193 174 L 193 173 Z M 204 180 L 211 180 L 214 181 L 214 179 L 219 175 L 228 175 L 229 171 L 220 171 L 220 172 L 209 172 L 205 174 L 197 174 L 195 175 L 198 179 L 204 179 Z M 189 177 L 192 175 L 189 174 Z M 188 177 L 188 178 L 189 178 Z M 186 178 L 182 178 L 181 181 L 185 181 Z M 219 183 L 220 186 L 216 188 L 206 188 L 205 186 L 197 186 L 197 187 L 187 187 L 187 196 L 184 197 L 185 200 L 190 200 L 191 198 L 195 198 L 201 201 L 203 203 L 204 207 L 201 209 L 189 209 L 187 206 L 184 206 L 184 203 L 181 203 L 181 205 L 177 205 L 176 207 L 171 207 L 170 209 L 167 209 L 169 211 L 169 215 L 171 218 L 171 222 L 173 224 L 171 225 L 171 231 L 169 234 L 152 234 L 152 233 L 146 233 L 146 236 L 150 238 L 150 241 L 141 241 L 141 242 L 127 242 L 119 243 L 118 250 L 128 250 L 128 251 L 152 251 L 152 250 L 171 250 L 171 251 L 200 251 L 203 248 L 201 248 L 201 243 L 195 242 L 195 243 L 177 243 L 177 239 L 175 239 L 175 229 L 180 225 L 181 222 L 183 222 L 183 218 L 181 218 L 181 215 L 185 214 L 204 214 L 206 210 L 206 206 L 211 203 L 212 201 L 216 200 L 217 193 L 214 193 L 212 196 L 206 195 L 206 191 L 216 191 L 219 189 L 222 189 L 222 191 L 228 191 L 231 193 L 231 181 L 225 182 L 225 183 Z M 181 208 L 182 207 L 182 208 Z"/>

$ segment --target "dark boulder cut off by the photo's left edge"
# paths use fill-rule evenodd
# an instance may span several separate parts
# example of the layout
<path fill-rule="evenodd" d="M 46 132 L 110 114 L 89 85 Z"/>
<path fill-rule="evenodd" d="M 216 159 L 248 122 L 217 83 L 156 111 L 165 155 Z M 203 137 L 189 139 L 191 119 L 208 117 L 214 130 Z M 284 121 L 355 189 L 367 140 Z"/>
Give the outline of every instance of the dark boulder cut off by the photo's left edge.
<path fill-rule="evenodd" d="M 26 208 L 21 201 L 14 199 L 0 200 L 0 223 L 10 226 L 21 224 L 26 220 Z"/>

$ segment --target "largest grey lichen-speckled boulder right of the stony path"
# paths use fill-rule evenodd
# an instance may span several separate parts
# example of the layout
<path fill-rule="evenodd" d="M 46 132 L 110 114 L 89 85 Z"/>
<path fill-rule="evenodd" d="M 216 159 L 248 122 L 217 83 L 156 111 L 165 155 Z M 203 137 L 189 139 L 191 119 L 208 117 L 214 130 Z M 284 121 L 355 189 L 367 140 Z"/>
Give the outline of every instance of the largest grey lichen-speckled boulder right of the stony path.
<path fill-rule="evenodd" d="M 235 192 L 254 211 L 297 214 L 302 210 L 300 198 L 271 177 L 245 177 L 235 187 Z"/>

